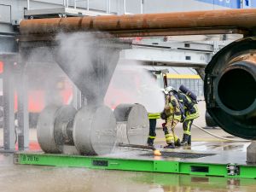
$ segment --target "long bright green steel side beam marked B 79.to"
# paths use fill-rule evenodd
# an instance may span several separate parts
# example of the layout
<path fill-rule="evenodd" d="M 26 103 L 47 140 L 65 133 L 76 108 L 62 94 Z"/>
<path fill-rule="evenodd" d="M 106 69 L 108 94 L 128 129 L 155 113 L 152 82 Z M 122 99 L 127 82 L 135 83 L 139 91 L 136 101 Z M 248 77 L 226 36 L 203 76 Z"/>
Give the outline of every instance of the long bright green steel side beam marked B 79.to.
<path fill-rule="evenodd" d="M 14 162 L 20 165 L 70 166 L 102 170 L 122 170 L 137 172 L 166 172 L 197 176 L 217 176 L 235 178 L 256 178 L 256 166 L 204 163 L 177 160 L 121 159 L 106 156 L 80 156 L 67 154 L 17 153 Z M 229 170 L 234 168 L 233 173 Z"/>

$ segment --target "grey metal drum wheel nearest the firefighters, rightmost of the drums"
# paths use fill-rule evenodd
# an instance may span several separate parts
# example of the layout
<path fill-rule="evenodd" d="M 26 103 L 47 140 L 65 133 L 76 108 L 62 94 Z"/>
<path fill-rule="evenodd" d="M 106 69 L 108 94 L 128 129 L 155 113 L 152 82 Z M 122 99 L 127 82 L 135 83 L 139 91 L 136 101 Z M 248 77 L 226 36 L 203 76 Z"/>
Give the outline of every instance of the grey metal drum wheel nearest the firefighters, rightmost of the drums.
<path fill-rule="evenodd" d="M 126 123 L 129 144 L 144 145 L 148 139 L 149 120 L 146 108 L 141 104 L 120 104 L 114 109 L 119 122 Z"/>

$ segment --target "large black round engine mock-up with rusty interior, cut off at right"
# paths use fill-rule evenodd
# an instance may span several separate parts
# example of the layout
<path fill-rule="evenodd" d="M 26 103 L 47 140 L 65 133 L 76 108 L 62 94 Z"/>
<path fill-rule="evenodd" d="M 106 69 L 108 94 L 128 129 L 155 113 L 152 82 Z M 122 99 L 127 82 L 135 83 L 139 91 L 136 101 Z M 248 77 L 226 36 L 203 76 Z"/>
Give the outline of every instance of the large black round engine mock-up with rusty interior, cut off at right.
<path fill-rule="evenodd" d="M 207 65 L 207 111 L 224 131 L 256 139 L 256 38 L 221 49 Z"/>

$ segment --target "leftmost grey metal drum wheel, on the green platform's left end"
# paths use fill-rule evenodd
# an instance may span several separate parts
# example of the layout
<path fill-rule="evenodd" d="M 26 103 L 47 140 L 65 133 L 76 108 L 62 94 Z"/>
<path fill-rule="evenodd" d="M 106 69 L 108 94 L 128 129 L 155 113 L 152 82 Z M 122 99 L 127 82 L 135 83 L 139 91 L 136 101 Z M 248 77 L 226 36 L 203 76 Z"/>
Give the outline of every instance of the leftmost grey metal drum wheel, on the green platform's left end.
<path fill-rule="evenodd" d="M 67 122 L 73 119 L 76 110 L 71 106 L 51 105 L 44 108 L 38 117 L 38 143 L 45 153 L 62 153 L 64 140 L 61 135 Z"/>

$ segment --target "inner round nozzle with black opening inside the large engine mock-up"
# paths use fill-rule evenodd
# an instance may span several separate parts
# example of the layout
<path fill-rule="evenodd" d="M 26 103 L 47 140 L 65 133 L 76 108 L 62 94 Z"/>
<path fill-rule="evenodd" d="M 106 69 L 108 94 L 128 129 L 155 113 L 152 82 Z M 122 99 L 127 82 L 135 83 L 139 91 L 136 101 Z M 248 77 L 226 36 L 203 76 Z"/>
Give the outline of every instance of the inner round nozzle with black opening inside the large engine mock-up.
<path fill-rule="evenodd" d="M 218 105 L 230 115 L 256 116 L 256 62 L 253 57 L 233 62 L 217 81 Z"/>

